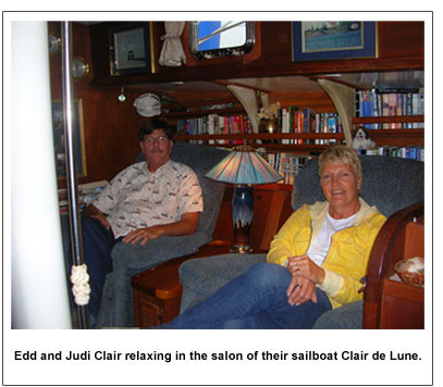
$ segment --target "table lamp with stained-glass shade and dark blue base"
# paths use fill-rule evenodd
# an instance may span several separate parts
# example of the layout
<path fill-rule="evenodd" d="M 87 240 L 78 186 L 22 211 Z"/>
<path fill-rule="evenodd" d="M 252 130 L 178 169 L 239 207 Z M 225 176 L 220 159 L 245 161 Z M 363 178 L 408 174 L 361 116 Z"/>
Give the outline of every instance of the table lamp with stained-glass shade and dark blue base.
<path fill-rule="evenodd" d="M 234 185 L 232 222 L 234 245 L 232 252 L 250 251 L 249 232 L 254 215 L 253 186 L 275 183 L 283 178 L 253 147 L 239 146 L 206 174 L 213 180 Z"/>

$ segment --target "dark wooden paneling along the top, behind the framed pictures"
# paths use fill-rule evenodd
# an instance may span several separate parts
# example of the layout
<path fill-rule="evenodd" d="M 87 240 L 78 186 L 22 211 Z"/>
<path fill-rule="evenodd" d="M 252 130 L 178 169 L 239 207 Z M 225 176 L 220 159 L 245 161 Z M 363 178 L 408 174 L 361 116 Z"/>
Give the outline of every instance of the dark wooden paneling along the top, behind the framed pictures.
<path fill-rule="evenodd" d="M 159 66 L 156 74 L 133 75 L 124 77 L 126 84 L 172 80 L 213 80 L 242 77 L 266 77 L 282 75 L 315 75 L 328 73 L 420 70 L 424 66 L 424 24 L 422 22 L 379 22 L 379 58 L 335 60 L 317 62 L 293 62 L 290 22 L 261 22 L 261 54 L 251 62 L 229 58 L 206 60 L 199 65 L 180 67 Z M 163 23 L 155 24 L 156 36 L 162 35 Z M 95 54 L 96 85 L 115 84 L 115 77 L 109 76 L 108 36 L 109 25 L 99 24 L 90 27 L 93 51 Z M 156 40 L 155 49 L 161 48 Z M 186 41 L 184 42 L 186 45 Z M 122 77 L 123 78 L 123 77 Z"/>

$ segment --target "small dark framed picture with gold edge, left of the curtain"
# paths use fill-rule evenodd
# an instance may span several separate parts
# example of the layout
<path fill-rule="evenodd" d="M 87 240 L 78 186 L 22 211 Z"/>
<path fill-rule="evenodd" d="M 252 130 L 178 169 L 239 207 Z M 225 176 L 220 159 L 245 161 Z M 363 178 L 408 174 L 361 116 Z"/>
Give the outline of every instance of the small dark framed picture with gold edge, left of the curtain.
<path fill-rule="evenodd" d="M 150 22 L 110 28 L 109 40 L 111 75 L 156 72 Z"/>

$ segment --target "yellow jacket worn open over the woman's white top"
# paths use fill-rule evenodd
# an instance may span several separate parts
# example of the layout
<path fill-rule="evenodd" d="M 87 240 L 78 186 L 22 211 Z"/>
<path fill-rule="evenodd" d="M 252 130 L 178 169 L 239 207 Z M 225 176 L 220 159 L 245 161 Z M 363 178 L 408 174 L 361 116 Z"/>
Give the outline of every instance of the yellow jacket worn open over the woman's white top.
<path fill-rule="evenodd" d="M 366 275 L 368 261 L 377 234 L 385 222 L 376 207 L 360 200 L 360 210 L 354 225 L 332 236 L 331 247 L 322 263 L 324 280 L 318 287 L 323 290 L 332 308 L 362 299 L 360 279 Z M 304 255 L 310 241 L 320 232 L 329 203 L 305 204 L 294 212 L 274 236 L 267 257 L 270 263 L 287 265 L 287 258 Z"/>

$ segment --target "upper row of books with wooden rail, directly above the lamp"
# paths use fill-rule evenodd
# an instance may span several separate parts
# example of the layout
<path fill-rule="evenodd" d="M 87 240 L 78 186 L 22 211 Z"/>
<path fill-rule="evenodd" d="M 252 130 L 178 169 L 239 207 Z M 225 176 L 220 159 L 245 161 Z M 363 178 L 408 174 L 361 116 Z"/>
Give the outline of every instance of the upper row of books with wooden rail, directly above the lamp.
<path fill-rule="evenodd" d="M 244 111 L 216 110 L 207 111 L 205 115 L 194 112 L 186 115 L 163 114 L 177 128 L 175 141 L 227 148 L 247 142 L 271 153 L 285 151 L 309 154 L 321 152 L 332 142 L 345 140 L 336 112 L 322 113 L 305 107 L 283 107 L 275 118 L 274 133 L 254 133 L 250 118 Z"/>

